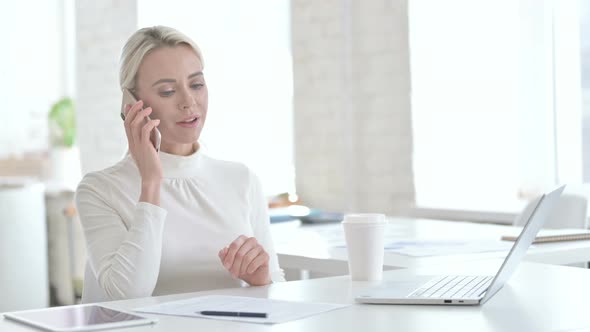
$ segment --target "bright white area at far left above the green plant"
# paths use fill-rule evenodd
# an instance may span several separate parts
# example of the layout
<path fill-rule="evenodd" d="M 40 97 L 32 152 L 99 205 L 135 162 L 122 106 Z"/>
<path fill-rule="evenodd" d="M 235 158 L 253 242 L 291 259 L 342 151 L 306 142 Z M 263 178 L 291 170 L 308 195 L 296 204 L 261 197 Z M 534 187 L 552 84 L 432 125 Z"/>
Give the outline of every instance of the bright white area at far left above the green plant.
<path fill-rule="evenodd" d="M 48 147 L 47 114 L 65 93 L 62 0 L 0 1 L 0 158 Z"/>

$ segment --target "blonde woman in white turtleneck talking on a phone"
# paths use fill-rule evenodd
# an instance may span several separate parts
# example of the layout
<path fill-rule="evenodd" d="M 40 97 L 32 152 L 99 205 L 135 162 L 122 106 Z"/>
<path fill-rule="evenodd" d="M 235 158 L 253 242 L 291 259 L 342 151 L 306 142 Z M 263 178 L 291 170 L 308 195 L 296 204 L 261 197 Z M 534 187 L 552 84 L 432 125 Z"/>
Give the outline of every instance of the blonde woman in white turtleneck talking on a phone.
<path fill-rule="evenodd" d="M 200 151 L 207 85 L 197 45 L 168 27 L 137 31 L 120 84 L 139 100 L 124 108 L 129 153 L 76 192 L 88 250 L 82 301 L 284 281 L 260 182 Z"/>

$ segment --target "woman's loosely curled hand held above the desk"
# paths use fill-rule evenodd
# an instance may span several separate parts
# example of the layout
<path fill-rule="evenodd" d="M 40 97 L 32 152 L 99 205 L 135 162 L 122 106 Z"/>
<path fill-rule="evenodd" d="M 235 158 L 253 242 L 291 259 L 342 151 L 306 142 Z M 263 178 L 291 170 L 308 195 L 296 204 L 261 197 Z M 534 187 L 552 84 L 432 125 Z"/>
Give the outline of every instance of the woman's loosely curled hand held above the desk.
<path fill-rule="evenodd" d="M 263 286 L 271 282 L 269 255 L 254 237 L 240 235 L 219 251 L 219 259 L 234 278 L 240 278 L 251 286 Z"/>

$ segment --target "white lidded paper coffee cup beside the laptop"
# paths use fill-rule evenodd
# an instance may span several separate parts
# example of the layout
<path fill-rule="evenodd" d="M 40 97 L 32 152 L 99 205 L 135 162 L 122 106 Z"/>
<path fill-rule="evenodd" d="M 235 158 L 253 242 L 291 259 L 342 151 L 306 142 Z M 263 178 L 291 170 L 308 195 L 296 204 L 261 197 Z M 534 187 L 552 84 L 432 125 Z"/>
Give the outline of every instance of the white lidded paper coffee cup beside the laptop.
<path fill-rule="evenodd" d="M 348 271 L 354 281 L 383 278 L 384 237 L 387 221 L 378 213 L 347 214 L 342 220 Z"/>

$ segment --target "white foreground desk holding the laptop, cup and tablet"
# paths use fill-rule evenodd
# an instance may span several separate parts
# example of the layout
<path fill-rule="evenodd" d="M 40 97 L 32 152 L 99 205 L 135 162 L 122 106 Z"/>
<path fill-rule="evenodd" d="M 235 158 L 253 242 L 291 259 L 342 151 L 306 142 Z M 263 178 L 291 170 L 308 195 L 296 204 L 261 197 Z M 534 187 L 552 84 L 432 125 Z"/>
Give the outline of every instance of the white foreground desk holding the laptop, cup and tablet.
<path fill-rule="evenodd" d="M 431 266 L 416 269 L 431 273 L 493 273 L 500 260 Z M 411 278 L 412 269 L 387 271 L 384 280 Z M 225 289 L 105 303 L 132 310 L 200 295 L 225 294 L 280 300 L 353 304 L 350 307 L 277 325 L 161 316 L 153 326 L 116 331 L 571 331 L 590 328 L 590 270 L 538 263 L 522 263 L 502 290 L 483 306 L 408 306 L 353 304 L 354 297 L 375 283 L 351 282 L 347 276 L 301 280 L 265 287 Z M 0 318 L 0 331 L 35 329 Z"/>

